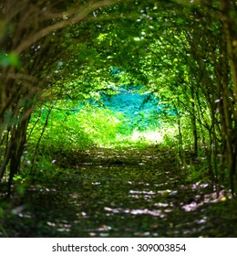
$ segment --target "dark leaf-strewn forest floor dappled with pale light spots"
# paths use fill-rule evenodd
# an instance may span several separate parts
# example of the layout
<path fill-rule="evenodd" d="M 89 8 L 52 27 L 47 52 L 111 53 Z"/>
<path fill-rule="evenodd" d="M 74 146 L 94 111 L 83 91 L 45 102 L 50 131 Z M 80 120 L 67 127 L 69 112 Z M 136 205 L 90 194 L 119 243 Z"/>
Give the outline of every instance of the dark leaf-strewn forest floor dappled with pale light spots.
<path fill-rule="evenodd" d="M 53 162 L 53 176 L 8 203 L 0 237 L 237 237 L 236 200 L 191 181 L 170 149 L 95 148 Z"/>

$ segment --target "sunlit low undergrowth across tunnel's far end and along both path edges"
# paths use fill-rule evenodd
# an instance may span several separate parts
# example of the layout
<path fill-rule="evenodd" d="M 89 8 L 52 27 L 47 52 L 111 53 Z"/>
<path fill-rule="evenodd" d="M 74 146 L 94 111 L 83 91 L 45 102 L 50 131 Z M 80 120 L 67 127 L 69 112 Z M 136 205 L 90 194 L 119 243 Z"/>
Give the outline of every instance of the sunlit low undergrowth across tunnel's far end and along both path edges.
<path fill-rule="evenodd" d="M 208 172 L 203 152 L 193 159 L 180 158 L 176 117 L 163 115 L 162 112 L 159 116 L 153 111 L 148 112 L 148 109 L 137 112 L 137 109 L 133 119 L 132 106 L 129 114 L 128 109 L 118 112 L 89 104 L 78 107 L 67 101 L 55 102 L 52 108 L 46 104 L 39 107 L 28 127 L 28 143 L 21 159 L 21 172 L 15 176 L 18 194 L 23 195 L 26 187 L 35 180 L 50 179 L 60 173 L 60 168 L 55 165 L 56 156 L 65 162 L 64 167 L 67 168 L 68 155 L 77 155 L 91 148 L 122 150 L 153 147 L 160 151 L 169 148 L 176 153 L 180 170 L 187 172 L 187 180 L 202 180 L 201 176 L 206 176 Z M 189 126 L 185 120 L 182 123 Z M 191 141 L 191 133 L 183 133 L 182 139 Z M 185 144 L 181 150 L 192 151 Z"/>

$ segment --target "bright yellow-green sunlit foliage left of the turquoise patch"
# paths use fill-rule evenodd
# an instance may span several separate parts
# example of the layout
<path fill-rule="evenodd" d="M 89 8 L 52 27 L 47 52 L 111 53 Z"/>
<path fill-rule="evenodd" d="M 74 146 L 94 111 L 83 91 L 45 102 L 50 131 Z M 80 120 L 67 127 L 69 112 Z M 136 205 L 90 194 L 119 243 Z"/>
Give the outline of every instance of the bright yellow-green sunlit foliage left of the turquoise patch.
<path fill-rule="evenodd" d="M 35 121 L 36 122 L 36 121 Z M 41 117 L 31 134 L 35 142 L 41 135 L 46 117 Z M 122 113 L 85 106 L 78 112 L 52 111 L 48 119 L 46 131 L 41 138 L 41 145 L 53 148 L 83 149 L 90 146 L 109 146 L 117 140 L 118 133 L 130 133 L 129 127 L 122 124 L 125 118 Z M 34 118 L 29 129 L 34 125 Z"/>

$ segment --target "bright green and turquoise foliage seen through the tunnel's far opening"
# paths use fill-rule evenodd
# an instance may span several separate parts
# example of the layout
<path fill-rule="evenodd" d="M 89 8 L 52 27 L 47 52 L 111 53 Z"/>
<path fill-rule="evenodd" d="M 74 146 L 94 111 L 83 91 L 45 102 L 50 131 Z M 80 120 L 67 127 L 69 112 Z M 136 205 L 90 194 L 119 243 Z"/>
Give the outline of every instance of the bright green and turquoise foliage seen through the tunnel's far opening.
<path fill-rule="evenodd" d="M 161 125 L 174 113 L 144 91 L 141 86 L 123 85 L 92 91 L 88 101 L 55 101 L 51 107 L 45 103 L 32 115 L 30 140 L 36 144 L 40 139 L 41 146 L 64 151 L 156 144 L 162 137 Z"/>

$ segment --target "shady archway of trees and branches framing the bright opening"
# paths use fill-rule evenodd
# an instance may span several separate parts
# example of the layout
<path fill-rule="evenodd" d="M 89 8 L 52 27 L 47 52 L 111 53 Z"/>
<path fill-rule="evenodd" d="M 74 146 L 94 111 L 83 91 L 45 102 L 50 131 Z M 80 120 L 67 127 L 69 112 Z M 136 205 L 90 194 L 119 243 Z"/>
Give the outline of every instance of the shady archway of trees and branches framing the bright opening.
<path fill-rule="evenodd" d="M 228 177 L 234 193 L 235 1 L 118 2 L 1 5 L 1 178 L 9 169 L 10 187 L 39 103 L 51 112 L 54 101 L 111 91 L 117 67 L 175 110 L 180 161 L 187 145 L 203 148 L 212 182 Z"/>

